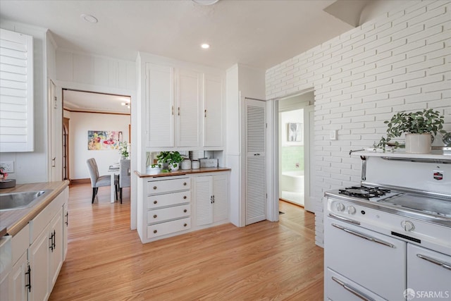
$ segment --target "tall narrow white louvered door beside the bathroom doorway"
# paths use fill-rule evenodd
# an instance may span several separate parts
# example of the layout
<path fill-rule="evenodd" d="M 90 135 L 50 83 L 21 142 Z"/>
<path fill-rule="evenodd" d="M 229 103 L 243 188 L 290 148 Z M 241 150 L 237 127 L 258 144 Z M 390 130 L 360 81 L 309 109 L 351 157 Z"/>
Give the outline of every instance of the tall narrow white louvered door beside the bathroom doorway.
<path fill-rule="evenodd" d="M 265 102 L 246 99 L 246 225 L 266 219 Z"/>

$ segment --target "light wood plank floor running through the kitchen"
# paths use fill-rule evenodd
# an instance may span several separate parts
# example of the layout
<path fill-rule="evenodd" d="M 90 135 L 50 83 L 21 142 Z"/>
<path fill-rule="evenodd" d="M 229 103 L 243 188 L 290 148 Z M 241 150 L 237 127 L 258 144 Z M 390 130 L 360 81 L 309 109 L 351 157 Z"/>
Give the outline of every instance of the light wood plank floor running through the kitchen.
<path fill-rule="evenodd" d="M 142 245 L 123 204 L 69 193 L 68 256 L 49 300 L 323 300 L 314 214 L 280 202 L 278 223 L 226 224 Z M 294 210 L 293 210 L 294 208 Z"/>

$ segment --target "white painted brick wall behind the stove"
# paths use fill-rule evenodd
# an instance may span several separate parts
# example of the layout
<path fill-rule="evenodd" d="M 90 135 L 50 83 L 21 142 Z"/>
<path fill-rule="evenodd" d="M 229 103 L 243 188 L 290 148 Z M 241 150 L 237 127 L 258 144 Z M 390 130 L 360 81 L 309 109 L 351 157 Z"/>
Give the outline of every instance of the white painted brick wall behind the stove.
<path fill-rule="evenodd" d="M 393 113 L 425 108 L 451 130 L 451 1 L 412 1 L 266 71 L 266 98 L 314 87 L 316 199 L 360 182 L 350 149 L 371 147 Z M 338 140 L 328 140 L 329 130 Z M 323 204 L 316 244 L 323 245 Z"/>

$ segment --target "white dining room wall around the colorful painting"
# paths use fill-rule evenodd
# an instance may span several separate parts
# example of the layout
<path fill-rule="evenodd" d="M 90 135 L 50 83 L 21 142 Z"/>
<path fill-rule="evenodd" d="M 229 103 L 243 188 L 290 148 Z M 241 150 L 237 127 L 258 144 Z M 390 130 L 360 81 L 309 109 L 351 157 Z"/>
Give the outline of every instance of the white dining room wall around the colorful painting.
<path fill-rule="evenodd" d="M 88 130 L 122 131 L 123 141 L 129 141 L 128 125 L 130 116 L 104 113 L 70 112 L 70 179 L 89 178 L 86 160 L 94 158 L 100 175 L 107 175 L 111 164 L 117 163 L 121 154 L 117 150 L 88 150 Z"/>

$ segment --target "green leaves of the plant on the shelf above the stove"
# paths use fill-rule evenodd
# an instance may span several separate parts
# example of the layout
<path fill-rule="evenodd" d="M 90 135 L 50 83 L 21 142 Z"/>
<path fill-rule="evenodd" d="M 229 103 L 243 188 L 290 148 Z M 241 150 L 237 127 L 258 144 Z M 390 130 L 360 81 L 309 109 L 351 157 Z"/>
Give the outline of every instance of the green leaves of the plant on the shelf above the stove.
<path fill-rule="evenodd" d="M 393 146 L 395 149 L 400 147 L 400 143 L 392 141 L 395 137 L 400 137 L 403 133 L 407 134 L 433 134 L 437 133 L 445 134 L 446 131 L 443 130 L 443 116 L 440 115 L 439 111 L 434 111 L 433 109 L 424 109 L 423 111 L 416 111 L 412 113 L 406 113 L 405 111 L 400 111 L 395 113 L 390 121 L 384 121 L 388 126 L 386 137 L 382 136 L 379 143 L 376 145 L 374 143 L 373 147 L 382 148 L 385 152 L 385 147 L 387 145 Z"/>

